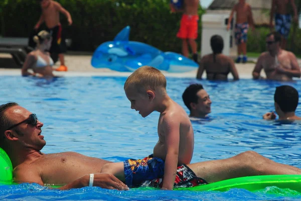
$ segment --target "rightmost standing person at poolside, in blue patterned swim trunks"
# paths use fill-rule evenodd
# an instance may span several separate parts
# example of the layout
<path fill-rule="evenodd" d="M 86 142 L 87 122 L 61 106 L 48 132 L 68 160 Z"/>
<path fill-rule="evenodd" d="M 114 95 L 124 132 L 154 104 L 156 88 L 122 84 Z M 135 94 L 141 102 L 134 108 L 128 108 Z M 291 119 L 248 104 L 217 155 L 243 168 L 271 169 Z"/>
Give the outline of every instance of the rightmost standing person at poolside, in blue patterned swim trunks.
<path fill-rule="evenodd" d="M 289 4 L 293 10 L 293 20 L 297 23 L 297 9 L 294 0 L 272 0 L 272 7 L 270 12 L 270 28 L 273 26 L 273 17 L 275 16 L 275 31 L 281 35 L 281 48 L 285 50 L 286 40 L 289 35 L 291 25 L 291 14 L 289 12 Z"/>

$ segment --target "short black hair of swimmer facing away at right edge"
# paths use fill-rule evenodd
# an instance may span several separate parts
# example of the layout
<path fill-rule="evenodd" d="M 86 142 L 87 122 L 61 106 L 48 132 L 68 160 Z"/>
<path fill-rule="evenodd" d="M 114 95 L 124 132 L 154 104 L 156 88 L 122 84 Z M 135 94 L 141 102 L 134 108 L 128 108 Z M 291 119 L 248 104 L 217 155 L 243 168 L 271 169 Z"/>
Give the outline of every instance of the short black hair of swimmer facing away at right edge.
<path fill-rule="evenodd" d="M 294 112 L 298 106 L 298 91 L 288 85 L 276 87 L 274 101 L 283 112 Z"/>

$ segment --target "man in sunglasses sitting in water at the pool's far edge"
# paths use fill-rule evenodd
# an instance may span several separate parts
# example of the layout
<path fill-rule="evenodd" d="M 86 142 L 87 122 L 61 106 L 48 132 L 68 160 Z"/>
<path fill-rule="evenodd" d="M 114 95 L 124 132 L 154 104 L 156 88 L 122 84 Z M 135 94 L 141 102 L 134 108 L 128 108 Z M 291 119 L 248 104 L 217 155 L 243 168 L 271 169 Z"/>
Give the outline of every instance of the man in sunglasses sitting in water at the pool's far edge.
<path fill-rule="evenodd" d="M 263 69 L 266 79 L 291 81 L 293 77 L 300 77 L 301 72 L 295 55 L 282 50 L 280 47 L 281 35 L 272 32 L 266 36 L 267 52 L 260 55 L 253 70 L 254 79 L 264 79 L 260 76 Z"/>

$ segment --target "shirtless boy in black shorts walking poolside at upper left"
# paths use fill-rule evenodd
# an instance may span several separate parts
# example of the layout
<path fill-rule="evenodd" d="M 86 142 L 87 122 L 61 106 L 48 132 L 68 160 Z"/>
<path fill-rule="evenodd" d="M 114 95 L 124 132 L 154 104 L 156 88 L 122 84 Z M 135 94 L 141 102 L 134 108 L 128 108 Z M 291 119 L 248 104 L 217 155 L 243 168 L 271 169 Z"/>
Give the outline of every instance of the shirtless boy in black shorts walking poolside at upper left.
<path fill-rule="evenodd" d="M 59 3 L 53 0 L 39 0 L 42 8 L 42 15 L 35 26 L 35 30 L 39 29 L 40 25 L 45 22 L 47 32 L 52 33 L 52 44 L 50 53 L 58 53 L 61 66 L 57 71 L 67 71 L 65 66 L 64 54 L 66 52 L 65 39 L 62 38 L 62 25 L 60 23 L 60 13 L 67 17 L 69 25 L 72 25 L 70 13 L 64 9 Z"/>

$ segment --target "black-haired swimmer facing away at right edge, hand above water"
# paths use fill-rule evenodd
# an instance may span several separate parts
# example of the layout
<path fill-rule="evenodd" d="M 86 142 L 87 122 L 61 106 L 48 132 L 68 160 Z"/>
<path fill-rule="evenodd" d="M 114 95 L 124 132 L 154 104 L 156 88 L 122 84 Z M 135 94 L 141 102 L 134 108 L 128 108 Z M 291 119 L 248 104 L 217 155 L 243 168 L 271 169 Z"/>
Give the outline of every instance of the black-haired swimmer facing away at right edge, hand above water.
<path fill-rule="evenodd" d="M 274 106 L 276 113 L 279 115 L 278 121 L 301 120 L 301 117 L 295 115 L 298 101 L 299 94 L 295 88 L 288 85 L 276 87 Z M 267 112 L 263 115 L 263 119 L 276 119 L 276 114 L 274 112 Z"/>

